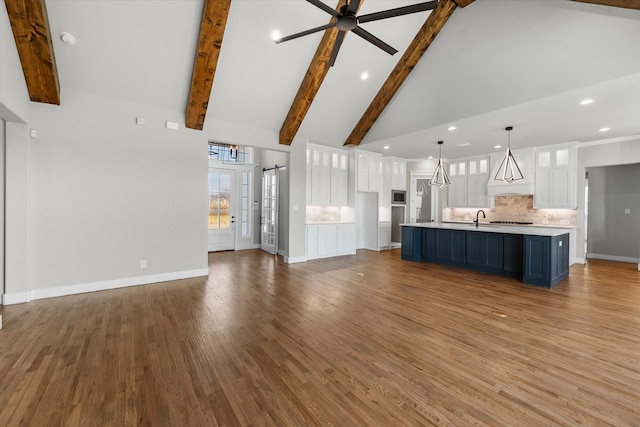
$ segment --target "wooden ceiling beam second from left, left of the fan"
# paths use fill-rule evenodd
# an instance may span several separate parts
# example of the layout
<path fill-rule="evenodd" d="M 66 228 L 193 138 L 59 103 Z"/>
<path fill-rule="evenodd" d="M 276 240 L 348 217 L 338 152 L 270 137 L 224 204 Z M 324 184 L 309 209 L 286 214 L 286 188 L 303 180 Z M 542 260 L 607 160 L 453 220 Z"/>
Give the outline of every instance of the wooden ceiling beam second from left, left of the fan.
<path fill-rule="evenodd" d="M 185 118 L 185 126 L 190 129 L 204 128 L 230 7 L 231 0 L 205 0 L 204 2 Z"/>

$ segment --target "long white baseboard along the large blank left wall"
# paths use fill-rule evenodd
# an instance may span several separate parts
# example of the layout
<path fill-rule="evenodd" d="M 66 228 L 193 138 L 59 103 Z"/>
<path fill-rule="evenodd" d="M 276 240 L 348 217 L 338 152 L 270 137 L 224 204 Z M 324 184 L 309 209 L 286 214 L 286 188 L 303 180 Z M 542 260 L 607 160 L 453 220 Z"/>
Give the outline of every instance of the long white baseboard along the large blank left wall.
<path fill-rule="evenodd" d="M 56 286 L 53 288 L 33 289 L 20 294 L 3 295 L 3 304 L 20 304 L 37 299 L 55 298 L 86 292 L 106 291 L 108 289 L 126 288 L 129 286 L 148 285 L 167 282 L 169 280 L 190 279 L 209 275 L 209 267 L 197 270 L 176 271 L 172 273 L 152 274 L 149 276 L 128 277 L 124 279 L 105 280 L 101 282 L 81 283 L 78 285 Z"/>

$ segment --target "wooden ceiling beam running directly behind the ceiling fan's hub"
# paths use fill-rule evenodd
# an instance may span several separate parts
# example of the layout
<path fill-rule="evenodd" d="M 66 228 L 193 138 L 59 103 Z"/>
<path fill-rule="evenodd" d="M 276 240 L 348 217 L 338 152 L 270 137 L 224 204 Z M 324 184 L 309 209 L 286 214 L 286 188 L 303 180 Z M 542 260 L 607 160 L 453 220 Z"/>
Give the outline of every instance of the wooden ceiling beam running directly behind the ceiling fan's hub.
<path fill-rule="evenodd" d="M 360 7 L 362 7 L 362 3 L 364 3 L 364 0 L 360 2 Z M 336 10 L 340 10 L 340 7 L 344 4 L 344 0 L 338 1 Z M 332 21 L 335 21 L 335 18 L 332 18 Z M 338 29 L 335 27 L 324 32 L 320 45 L 315 55 L 313 55 L 313 59 L 309 64 L 307 73 L 302 79 L 300 88 L 298 88 L 298 93 L 296 93 L 293 103 L 289 108 L 289 113 L 287 113 L 287 117 L 280 128 L 280 144 L 291 145 L 298 129 L 300 129 L 300 125 L 302 125 L 302 121 L 307 115 L 311 103 L 329 72 L 329 57 L 331 56 L 331 50 L 336 42 L 337 35 Z"/>

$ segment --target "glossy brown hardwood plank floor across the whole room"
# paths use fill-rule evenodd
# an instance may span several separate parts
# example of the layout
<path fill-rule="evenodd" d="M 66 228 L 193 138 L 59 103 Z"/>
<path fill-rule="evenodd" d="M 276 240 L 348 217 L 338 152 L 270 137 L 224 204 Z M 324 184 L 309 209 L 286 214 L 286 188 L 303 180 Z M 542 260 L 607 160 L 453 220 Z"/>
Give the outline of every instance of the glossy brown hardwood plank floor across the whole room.
<path fill-rule="evenodd" d="M 634 264 L 550 290 L 399 250 L 209 263 L 4 307 L 0 425 L 640 425 Z"/>

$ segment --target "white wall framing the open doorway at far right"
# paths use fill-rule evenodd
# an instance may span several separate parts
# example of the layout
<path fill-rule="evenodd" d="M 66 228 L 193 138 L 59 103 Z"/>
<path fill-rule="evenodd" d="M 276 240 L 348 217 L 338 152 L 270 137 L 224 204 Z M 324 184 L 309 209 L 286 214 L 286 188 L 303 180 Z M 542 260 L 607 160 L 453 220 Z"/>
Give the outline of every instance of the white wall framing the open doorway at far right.
<path fill-rule="evenodd" d="M 584 186 L 588 167 L 640 163 L 640 137 L 620 141 L 604 141 L 599 144 L 578 145 L 577 192 L 578 230 L 576 233 L 576 257 L 583 260 L 584 253 Z"/>

